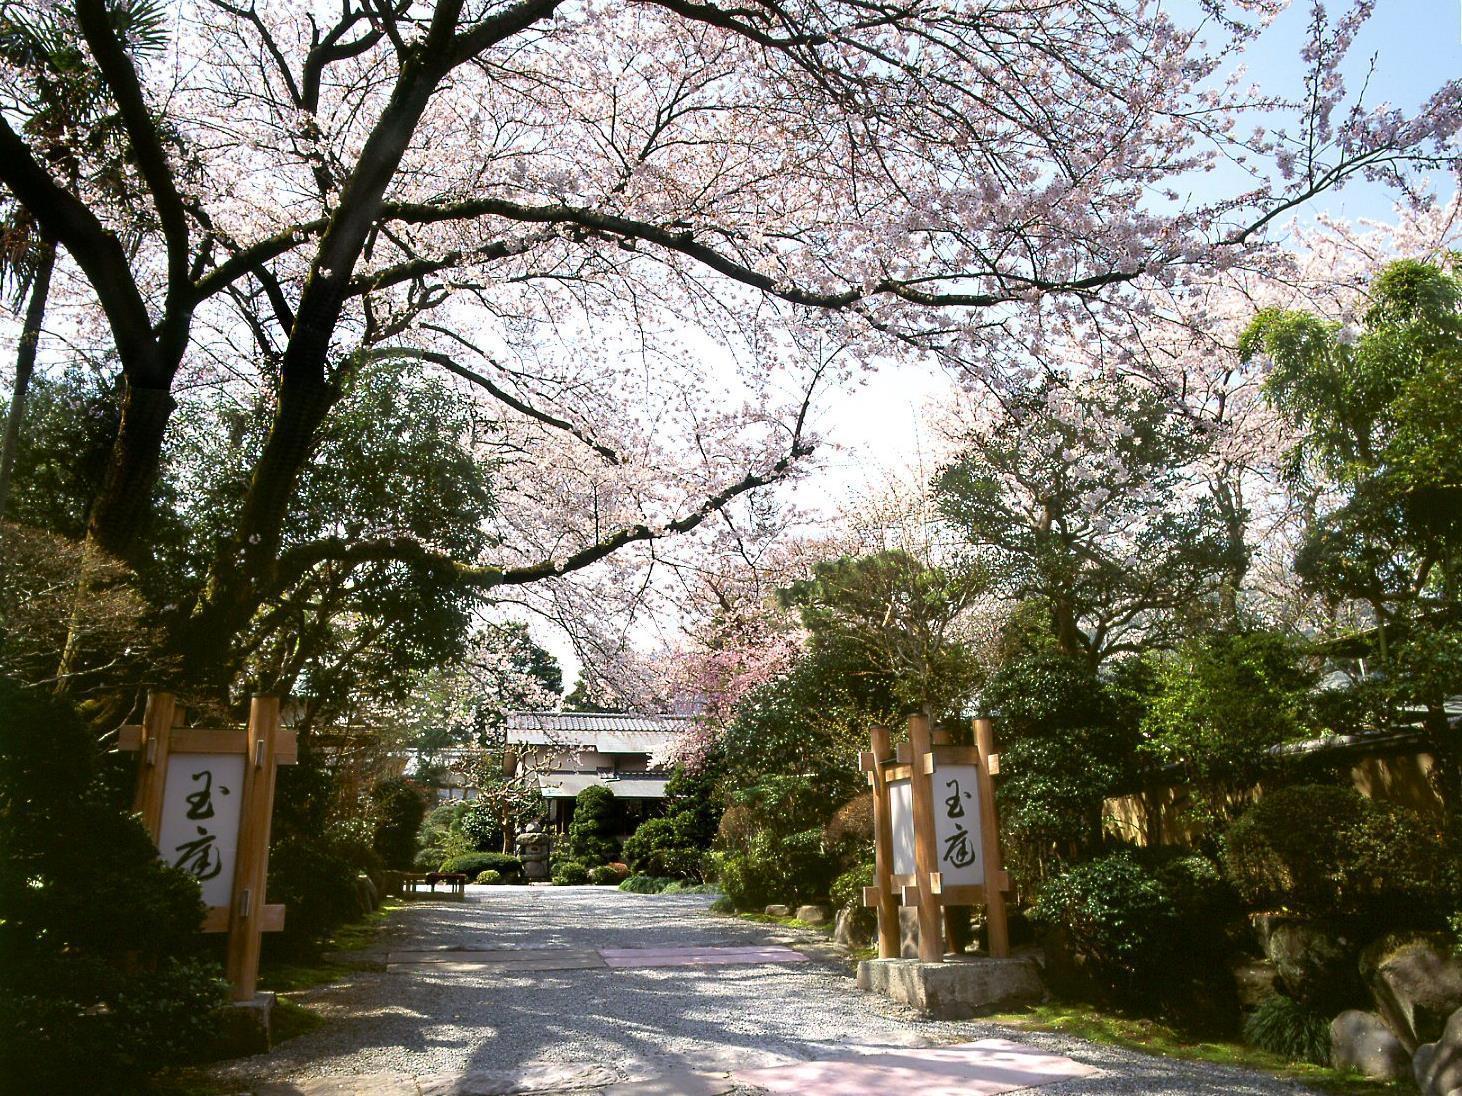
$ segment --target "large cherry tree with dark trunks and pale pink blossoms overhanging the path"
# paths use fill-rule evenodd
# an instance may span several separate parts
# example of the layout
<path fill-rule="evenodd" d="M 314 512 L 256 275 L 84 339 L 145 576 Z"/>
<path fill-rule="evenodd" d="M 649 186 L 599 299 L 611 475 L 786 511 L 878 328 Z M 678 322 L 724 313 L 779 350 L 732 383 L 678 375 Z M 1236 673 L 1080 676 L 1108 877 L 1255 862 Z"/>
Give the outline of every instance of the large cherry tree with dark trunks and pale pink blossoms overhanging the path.
<path fill-rule="evenodd" d="M 1276 6 L 1205 0 L 1183 26 L 1129 0 L 180 0 L 170 50 L 137 58 L 110 0 L 53 3 L 146 194 L 54 171 L 23 66 L 0 72 L 0 181 L 79 269 L 123 377 L 88 542 L 148 551 L 178 396 L 221 377 L 273 418 L 177 628 L 194 674 L 227 671 L 221 644 L 301 568 L 408 560 L 485 596 L 697 529 L 808 454 L 808 338 L 975 362 L 1032 304 L 1238 262 L 1329 187 L 1411 191 L 1450 158 L 1462 85 L 1414 115 L 1348 96 L 1368 3 L 1314 6 L 1300 94 L 1222 79 Z M 1167 197 L 1225 156 L 1253 186 Z M 708 384 L 712 351 L 734 383 Z M 377 355 L 452 374 L 520 447 L 537 482 L 496 552 L 284 549 L 320 425 Z"/>

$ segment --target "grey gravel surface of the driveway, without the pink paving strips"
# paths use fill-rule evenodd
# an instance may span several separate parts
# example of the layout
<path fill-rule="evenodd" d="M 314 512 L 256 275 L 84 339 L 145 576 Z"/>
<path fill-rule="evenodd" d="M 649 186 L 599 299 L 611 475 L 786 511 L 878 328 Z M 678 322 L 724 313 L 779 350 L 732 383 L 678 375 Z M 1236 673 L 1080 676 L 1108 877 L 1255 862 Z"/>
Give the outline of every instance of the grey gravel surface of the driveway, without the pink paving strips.
<path fill-rule="evenodd" d="M 787 943 L 785 934 L 706 912 L 703 896 L 608 887 L 472 887 L 466 902 L 408 905 L 389 947 L 599 948 Z M 630 970 L 363 970 L 314 991 L 329 1023 L 268 1055 L 219 1070 L 240 1090 L 263 1081 L 592 1062 L 607 1080 L 826 1058 L 849 1043 L 915 1046 L 1010 1038 L 1101 1067 L 1041 1093 L 1219 1096 L 1303 1093 L 1263 1074 L 1177 1062 L 1067 1036 L 981 1021 L 921 1020 L 861 994 L 846 963 Z M 348 1083 L 341 1092 L 351 1092 Z M 368 1086 L 361 1083 L 361 1092 Z"/>

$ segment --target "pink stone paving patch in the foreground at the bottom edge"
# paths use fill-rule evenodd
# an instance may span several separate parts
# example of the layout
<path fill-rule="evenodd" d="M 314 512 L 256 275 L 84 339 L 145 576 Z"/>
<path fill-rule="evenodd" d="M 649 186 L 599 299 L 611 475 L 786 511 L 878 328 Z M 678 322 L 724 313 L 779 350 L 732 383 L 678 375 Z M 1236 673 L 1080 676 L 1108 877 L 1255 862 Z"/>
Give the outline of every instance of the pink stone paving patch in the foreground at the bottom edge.
<path fill-rule="evenodd" d="M 1098 1073 L 1070 1058 L 1041 1054 L 1006 1039 L 927 1049 L 848 1048 L 838 1061 L 738 1070 L 732 1080 L 797 1096 L 991 1096 Z M 857 1057 L 854 1057 L 857 1055 Z"/>

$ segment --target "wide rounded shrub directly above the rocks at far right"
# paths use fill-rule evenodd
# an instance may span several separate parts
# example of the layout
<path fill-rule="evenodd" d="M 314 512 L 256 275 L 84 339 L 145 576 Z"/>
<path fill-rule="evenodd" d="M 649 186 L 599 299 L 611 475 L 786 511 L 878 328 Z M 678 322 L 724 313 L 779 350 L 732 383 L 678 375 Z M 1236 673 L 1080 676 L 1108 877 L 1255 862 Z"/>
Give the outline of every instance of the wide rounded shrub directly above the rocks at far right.
<path fill-rule="evenodd" d="M 1447 855 L 1414 811 L 1351 788 L 1295 785 L 1265 795 L 1224 836 L 1224 869 L 1259 909 L 1440 922 Z"/>

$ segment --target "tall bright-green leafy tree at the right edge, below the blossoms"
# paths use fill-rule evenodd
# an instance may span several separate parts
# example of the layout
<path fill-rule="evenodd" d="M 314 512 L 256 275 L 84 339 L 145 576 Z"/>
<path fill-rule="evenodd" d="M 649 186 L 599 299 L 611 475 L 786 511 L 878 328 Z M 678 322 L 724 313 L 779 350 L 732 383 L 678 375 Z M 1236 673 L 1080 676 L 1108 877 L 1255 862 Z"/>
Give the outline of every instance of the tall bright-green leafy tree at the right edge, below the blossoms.
<path fill-rule="evenodd" d="M 1320 498 L 1297 570 L 1367 611 L 1332 650 L 1380 671 L 1383 718 L 1421 715 L 1455 807 L 1462 769 L 1444 704 L 1462 693 L 1462 281 L 1398 262 L 1371 282 L 1360 326 L 1266 310 L 1243 349 L 1270 364 L 1266 389 L 1303 431 L 1292 475 Z"/>

